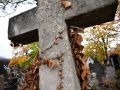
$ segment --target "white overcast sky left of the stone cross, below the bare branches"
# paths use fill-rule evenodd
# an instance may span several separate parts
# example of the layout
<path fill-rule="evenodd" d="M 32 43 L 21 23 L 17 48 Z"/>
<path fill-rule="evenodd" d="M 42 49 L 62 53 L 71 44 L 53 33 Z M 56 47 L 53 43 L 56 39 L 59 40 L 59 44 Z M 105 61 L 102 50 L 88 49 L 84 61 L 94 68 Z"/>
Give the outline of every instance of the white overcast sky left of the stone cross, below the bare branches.
<path fill-rule="evenodd" d="M 34 5 L 21 5 L 17 8 L 16 12 L 5 17 L 0 17 L 0 56 L 11 58 L 12 57 L 12 47 L 10 46 L 10 41 L 8 40 L 8 21 L 10 17 L 16 14 L 24 12 L 28 9 L 35 7 Z M 0 12 L 1 14 L 1 12 Z"/>

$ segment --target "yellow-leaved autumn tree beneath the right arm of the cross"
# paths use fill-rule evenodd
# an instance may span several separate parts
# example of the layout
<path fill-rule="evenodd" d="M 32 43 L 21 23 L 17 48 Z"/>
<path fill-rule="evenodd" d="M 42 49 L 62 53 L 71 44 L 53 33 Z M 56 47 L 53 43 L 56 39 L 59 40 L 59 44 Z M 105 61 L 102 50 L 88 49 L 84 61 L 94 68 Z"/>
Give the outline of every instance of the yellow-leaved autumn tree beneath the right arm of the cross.
<path fill-rule="evenodd" d="M 118 36 L 113 22 L 87 28 L 85 33 L 87 33 L 85 39 L 88 41 L 84 49 L 85 54 L 100 61 L 106 60 L 110 43 Z"/>

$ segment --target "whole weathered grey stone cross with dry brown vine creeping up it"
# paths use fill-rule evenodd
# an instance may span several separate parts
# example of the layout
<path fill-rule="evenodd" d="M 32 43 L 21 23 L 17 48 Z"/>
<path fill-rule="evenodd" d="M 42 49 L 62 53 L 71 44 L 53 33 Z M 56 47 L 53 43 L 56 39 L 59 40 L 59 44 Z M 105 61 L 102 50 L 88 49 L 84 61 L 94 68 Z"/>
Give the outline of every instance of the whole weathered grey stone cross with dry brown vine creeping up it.
<path fill-rule="evenodd" d="M 67 26 L 88 27 L 114 19 L 117 0 L 68 0 L 72 6 L 65 9 L 61 0 L 38 0 L 37 8 L 9 20 L 8 38 L 13 42 L 28 44 L 39 40 L 40 51 L 51 47 L 61 32 L 63 39 L 40 56 L 56 57 L 64 52 L 63 90 L 80 90 L 69 43 Z M 40 90 L 56 90 L 59 84 L 58 69 L 40 66 Z"/>

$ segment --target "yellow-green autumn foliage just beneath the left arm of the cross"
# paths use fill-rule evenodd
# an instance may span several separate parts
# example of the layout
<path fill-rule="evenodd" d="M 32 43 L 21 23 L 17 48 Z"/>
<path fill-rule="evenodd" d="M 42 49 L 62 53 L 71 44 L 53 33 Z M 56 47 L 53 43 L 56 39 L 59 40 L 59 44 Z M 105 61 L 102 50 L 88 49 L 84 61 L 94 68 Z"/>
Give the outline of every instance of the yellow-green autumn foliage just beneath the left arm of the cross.
<path fill-rule="evenodd" d="M 32 44 L 19 46 L 19 48 L 14 48 L 15 53 L 11 58 L 9 66 L 13 67 L 19 65 L 20 67 L 28 66 L 37 56 L 39 52 L 38 43 L 34 42 Z"/>

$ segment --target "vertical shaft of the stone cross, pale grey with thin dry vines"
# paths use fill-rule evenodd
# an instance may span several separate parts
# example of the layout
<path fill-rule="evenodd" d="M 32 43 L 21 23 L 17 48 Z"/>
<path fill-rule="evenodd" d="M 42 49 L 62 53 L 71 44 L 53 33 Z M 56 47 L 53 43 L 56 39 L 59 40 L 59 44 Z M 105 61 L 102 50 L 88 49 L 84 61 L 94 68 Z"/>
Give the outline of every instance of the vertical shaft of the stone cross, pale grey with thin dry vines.
<path fill-rule="evenodd" d="M 63 52 L 63 90 L 80 90 L 80 84 L 76 75 L 75 65 L 71 53 L 71 47 L 68 39 L 67 26 L 63 16 L 63 9 L 59 0 L 44 0 L 38 4 L 38 22 L 39 41 L 42 49 L 41 57 L 55 58 L 60 52 Z M 40 6 L 39 6 L 40 5 Z M 40 17 L 40 18 L 39 18 Z M 43 19 L 43 20 L 42 20 Z M 62 39 L 58 40 L 58 44 L 54 45 L 55 38 L 62 32 Z M 46 50 L 44 52 L 44 50 Z M 46 65 L 40 66 L 40 89 L 41 90 L 56 90 L 60 83 L 59 68 L 51 69 Z"/>

